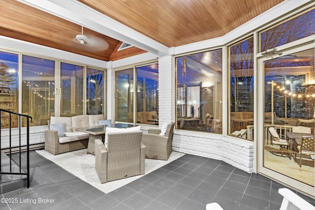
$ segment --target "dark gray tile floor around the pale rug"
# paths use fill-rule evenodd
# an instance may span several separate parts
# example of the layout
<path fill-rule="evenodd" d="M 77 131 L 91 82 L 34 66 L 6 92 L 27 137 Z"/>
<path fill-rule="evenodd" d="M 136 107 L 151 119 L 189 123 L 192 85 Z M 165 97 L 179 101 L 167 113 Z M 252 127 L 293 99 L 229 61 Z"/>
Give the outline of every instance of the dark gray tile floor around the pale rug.
<path fill-rule="evenodd" d="M 10 203 L 0 202 L 1 210 L 205 210 L 211 202 L 224 210 L 279 210 L 283 199 L 284 186 L 273 180 L 190 154 L 108 194 L 35 151 L 30 160 L 31 187 L 2 194 Z"/>

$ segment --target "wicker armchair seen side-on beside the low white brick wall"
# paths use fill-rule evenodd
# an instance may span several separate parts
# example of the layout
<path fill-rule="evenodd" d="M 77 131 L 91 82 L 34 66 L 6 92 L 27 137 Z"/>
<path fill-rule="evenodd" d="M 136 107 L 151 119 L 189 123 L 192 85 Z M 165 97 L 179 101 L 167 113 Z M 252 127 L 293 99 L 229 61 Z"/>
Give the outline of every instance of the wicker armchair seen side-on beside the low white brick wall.
<path fill-rule="evenodd" d="M 167 160 L 172 153 L 173 130 L 175 123 L 167 126 L 165 136 L 160 136 L 160 129 L 149 129 L 142 134 L 142 143 L 146 146 L 146 158 Z"/>

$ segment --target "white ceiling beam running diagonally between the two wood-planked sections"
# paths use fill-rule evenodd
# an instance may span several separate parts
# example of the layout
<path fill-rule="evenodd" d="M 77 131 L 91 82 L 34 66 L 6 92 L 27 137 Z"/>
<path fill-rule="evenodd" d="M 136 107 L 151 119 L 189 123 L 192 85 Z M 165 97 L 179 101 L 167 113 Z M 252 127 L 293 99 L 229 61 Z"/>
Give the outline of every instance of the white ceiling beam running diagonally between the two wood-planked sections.
<path fill-rule="evenodd" d="M 169 48 L 76 0 L 18 0 L 137 48 L 165 56 Z"/>

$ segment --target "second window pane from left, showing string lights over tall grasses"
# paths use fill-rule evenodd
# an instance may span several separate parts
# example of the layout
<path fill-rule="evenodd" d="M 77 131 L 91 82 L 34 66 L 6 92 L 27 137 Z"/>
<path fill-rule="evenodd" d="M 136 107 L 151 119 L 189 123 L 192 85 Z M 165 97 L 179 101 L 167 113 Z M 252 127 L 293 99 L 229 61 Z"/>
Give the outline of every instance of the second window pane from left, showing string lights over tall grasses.
<path fill-rule="evenodd" d="M 31 126 L 46 125 L 55 115 L 55 61 L 22 57 L 22 113 L 32 116 Z"/>

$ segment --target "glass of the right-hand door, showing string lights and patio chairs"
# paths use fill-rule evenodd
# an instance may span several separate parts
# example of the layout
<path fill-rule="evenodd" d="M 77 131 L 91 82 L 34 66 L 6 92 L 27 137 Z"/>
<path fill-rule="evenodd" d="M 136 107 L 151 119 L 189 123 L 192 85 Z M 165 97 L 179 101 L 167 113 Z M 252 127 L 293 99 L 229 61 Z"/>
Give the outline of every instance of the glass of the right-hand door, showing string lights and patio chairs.
<path fill-rule="evenodd" d="M 311 48 L 263 63 L 263 166 L 311 186 L 314 158 L 301 151 L 303 137 L 314 145 L 314 57 Z"/>

